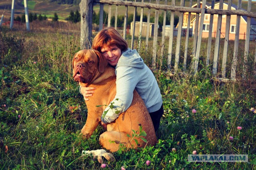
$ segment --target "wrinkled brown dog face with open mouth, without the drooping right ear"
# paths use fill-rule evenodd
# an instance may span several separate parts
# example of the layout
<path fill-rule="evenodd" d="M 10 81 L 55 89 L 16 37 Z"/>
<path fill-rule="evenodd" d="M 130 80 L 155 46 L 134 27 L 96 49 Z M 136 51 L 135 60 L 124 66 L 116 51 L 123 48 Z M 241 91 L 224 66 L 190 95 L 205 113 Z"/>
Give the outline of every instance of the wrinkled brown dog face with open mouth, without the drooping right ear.
<path fill-rule="evenodd" d="M 98 65 L 97 55 L 93 50 L 80 50 L 73 58 L 73 78 L 76 82 L 88 83 Z"/>

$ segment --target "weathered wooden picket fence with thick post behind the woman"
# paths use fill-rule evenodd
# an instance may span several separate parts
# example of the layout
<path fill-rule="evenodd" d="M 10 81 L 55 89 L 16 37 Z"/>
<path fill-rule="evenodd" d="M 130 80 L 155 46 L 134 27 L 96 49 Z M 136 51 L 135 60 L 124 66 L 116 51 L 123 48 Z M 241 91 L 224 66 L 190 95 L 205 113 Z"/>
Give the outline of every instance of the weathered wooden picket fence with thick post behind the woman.
<path fill-rule="evenodd" d="M 195 23 L 195 31 L 194 31 L 194 42 L 193 42 L 193 52 L 192 56 L 194 58 L 192 62 L 192 73 L 196 74 L 198 72 L 198 62 L 199 62 L 199 54 L 200 54 L 200 47 L 201 47 L 201 40 L 202 40 L 202 30 L 203 30 L 203 22 L 204 20 L 201 19 L 199 23 L 199 16 L 204 18 L 205 14 L 210 14 L 210 26 L 209 26 L 209 36 L 208 36 L 208 44 L 207 44 L 207 56 L 206 56 L 206 66 L 210 64 L 210 54 L 211 54 L 211 47 L 212 47 L 212 29 L 213 29 L 213 16 L 214 14 L 218 14 L 218 24 L 217 28 L 221 28 L 222 24 L 222 15 L 226 15 L 226 32 L 229 32 L 230 28 L 230 16 L 237 15 L 236 19 L 236 37 L 234 40 L 234 52 L 233 52 L 233 59 L 232 59 L 232 66 L 231 66 L 231 74 L 230 78 L 226 78 L 226 63 L 227 63 L 227 56 L 228 56 L 228 45 L 229 45 L 229 34 L 225 34 L 225 42 L 224 42 L 224 50 L 222 56 L 222 67 L 221 67 L 221 75 L 218 77 L 219 80 L 225 82 L 226 80 L 236 80 L 236 68 L 237 68 L 237 60 L 238 60 L 238 45 L 239 45 L 239 30 L 240 30 L 240 16 L 247 16 L 247 27 L 246 27 L 246 38 L 244 43 L 244 63 L 247 62 L 248 54 L 249 54 L 249 43 L 250 43 L 250 21 L 251 18 L 256 18 L 256 13 L 251 11 L 252 1 L 248 0 L 248 10 L 242 10 L 242 0 L 238 0 L 238 9 L 231 10 L 232 0 L 228 0 L 228 10 L 223 10 L 223 0 L 220 0 L 219 9 L 206 9 L 206 0 L 202 0 L 202 8 L 200 8 L 200 0 L 197 0 L 197 8 L 191 8 L 192 0 L 189 2 L 189 7 L 185 7 L 185 0 L 180 0 L 180 6 L 175 5 L 175 0 L 172 0 L 171 5 L 167 5 L 167 0 L 165 0 L 164 4 L 160 4 L 159 0 L 156 0 L 156 3 L 151 3 L 151 0 L 148 2 L 136 2 L 134 0 L 131 1 L 124 1 L 124 0 L 81 0 L 80 2 L 80 11 L 81 11 L 81 41 L 80 47 L 81 49 L 90 48 L 91 47 L 91 38 L 92 38 L 92 12 L 93 12 L 93 3 L 98 2 L 100 3 L 100 19 L 99 19 L 99 29 L 103 28 L 103 6 L 108 5 L 108 27 L 110 26 L 110 19 L 111 19 L 111 8 L 112 6 L 116 7 L 115 13 L 115 28 L 117 26 L 117 16 L 118 16 L 118 6 L 125 6 L 124 11 L 124 27 L 123 27 L 123 37 L 126 38 L 126 22 L 127 22 L 127 15 L 128 15 L 128 6 L 134 7 L 134 17 L 133 23 L 136 20 L 136 12 L 137 7 L 140 7 L 140 32 L 142 30 L 142 16 L 144 12 L 144 8 L 148 8 L 148 20 L 147 20 L 147 36 L 146 36 L 146 50 L 148 50 L 148 32 L 149 32 L 149 20 L 150 20 L 150 9 L 155 9 L 155 23 L 154 23 L 154 37 L 153 37 L 153 46 L 152 46 L 152 68 L 156 67 L 156 57 L 157 57 L 157 50 L 161 48 L 160 55 L 158 57 L 163 56 L 164 52 L 164 40 L 165 40 L 165 26 L 166 26 L 166 12 L 170 11 L 170 35 L 169 35 L 169 43 L 168 43 L 168 68 L 171 69 L 171 62 L 172 62 L 172 46 L 173 46 L 173 28 L 174 28 L 174 12 L 179 12 L 179 21 L 178 21 L 178 34 L 177 34 L 177 42 L 176 42 L 176 50 L 175 50 L 175 60 L 174 60 L 174 73 L 178 72 L 179 60 L 180 60 L 180 46 L 181 46 L 181 37 L 182 37 L 182 22 L 183 22 L 183 14 L 184 12 L 189 12 L 188 14 L 188 25 L 190 24 L 190 16 L 191 13 L 196 13 L 196 23 Z M 212 0 L 211 6 L 214 6 L 215 0 Z M 158 43 L 158 18 L 159 18 L 159 10 L 164 11 L 164 20 L 163 20 L 163 30 L 162 30 L 162 40 Z M 131 49 L 134 47 L 134 29 L 135 24 L 133 24 L 131 31 L 132 31 L 132 40 L 131 40 Z M 216 31 L 216 39 L 214 45 L 214 58 L 212 63 L 212 74 L 217 76 L 217 68 L 218 68 L 218 61 L 219 61 L 219 51 L 220 51 L 220 32 L 221 30 L 218 29 Z M 183 72 L 186 72 L 187 68 L 187 57 L 188 57 L 188 41 L 189 41 L 189 27 L 186 30 L 186 38 L 185 38 L 185 49 L 184 49 L 184 61 L 183 61 Z M 141 46 L 141 38 L 138 38 L 138 52 L 140 52 Z M 157 48 L 158 44 L 161 44 L 160 47 Z M 250 49 L 252 50 L 252 49 Z M 256 62 L 256 54 L 254 59 L 254 66 Z M 220 63 L 219 63 L 220 64 Z M 243 66 L 243 70 L 246 70 L 246 64 Z"/>

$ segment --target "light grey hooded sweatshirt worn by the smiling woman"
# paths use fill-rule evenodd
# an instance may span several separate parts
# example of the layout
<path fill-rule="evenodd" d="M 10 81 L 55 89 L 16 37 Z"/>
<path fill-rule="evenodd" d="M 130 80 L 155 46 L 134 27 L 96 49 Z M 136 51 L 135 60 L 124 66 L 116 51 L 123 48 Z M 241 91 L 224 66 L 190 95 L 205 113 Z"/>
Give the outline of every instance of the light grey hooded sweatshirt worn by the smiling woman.
<path fill-rule="evenodd" d="M 152 71 L 144 64 L 137 50 L 128 48 L 116 65 L 116 96 L 104 110 L 101 120 L 110 123 L 132 103 L 134 89 L 146 104 L 148 112 L 155 112 L 162 106 L 162 96 Z M 114 107 L 111 109 L 111 103 Z"/>

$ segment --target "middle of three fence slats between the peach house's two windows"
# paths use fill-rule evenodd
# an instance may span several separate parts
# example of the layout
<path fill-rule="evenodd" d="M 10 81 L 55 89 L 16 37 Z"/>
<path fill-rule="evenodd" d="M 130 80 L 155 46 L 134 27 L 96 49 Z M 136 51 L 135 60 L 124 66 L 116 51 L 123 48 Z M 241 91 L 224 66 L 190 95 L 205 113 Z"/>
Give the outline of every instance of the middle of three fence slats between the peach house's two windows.
<path fill-rule="evenodd" d="M 223 0 L 220 0 L 219 9 L 220 9 L 220 10 L 223 9 Z M 215 39 L 215 46 L 214 46 L 213 67 L 212 67 L 212 74 L 213 74 L 214 76 L 217 74 L 217 68 L 218 68 L 218 59 L 219 59 L 219 50 L 220 50 L 221 22 L 222 22 L 222 15 L 218 15 L 216 39 Z"/>

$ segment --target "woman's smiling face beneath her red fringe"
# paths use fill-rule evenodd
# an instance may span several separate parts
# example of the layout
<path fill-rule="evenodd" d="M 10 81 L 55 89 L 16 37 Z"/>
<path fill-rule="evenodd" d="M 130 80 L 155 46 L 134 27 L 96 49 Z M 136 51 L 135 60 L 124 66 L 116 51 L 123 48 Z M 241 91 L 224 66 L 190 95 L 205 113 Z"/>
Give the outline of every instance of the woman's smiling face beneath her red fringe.
<path fill-rule="evenodd" d="M 111 66 L 116 66 L 122 51 L 116 45 L 111 45 L 101 48 L 102 55 L 107 59 L 108 64 Z"/>

